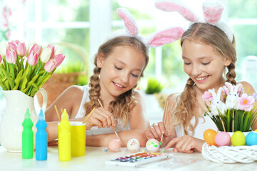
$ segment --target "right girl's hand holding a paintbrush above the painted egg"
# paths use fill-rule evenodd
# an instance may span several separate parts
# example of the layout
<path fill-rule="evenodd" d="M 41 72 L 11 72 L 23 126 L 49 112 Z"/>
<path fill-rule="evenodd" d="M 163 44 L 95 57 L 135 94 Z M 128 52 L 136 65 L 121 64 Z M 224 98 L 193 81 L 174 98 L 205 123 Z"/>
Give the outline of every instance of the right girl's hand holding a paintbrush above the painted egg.
<path fill-rule="evenodd" d="M 163 138 L 162 138 L 162 134 L 163 134 Z M 158 124 L 157 123 L 152 124 L 150 129 L 145 131 L 145 135 L 147 137 L 147 140 L 152 138 L 156 140 L 161 140 L 162 138 L 162 141 L 165 142 L 165 140 L 170 137 L 171 132 L 165 129 L 165 125 L 163 122 L 159 122 Z"/>

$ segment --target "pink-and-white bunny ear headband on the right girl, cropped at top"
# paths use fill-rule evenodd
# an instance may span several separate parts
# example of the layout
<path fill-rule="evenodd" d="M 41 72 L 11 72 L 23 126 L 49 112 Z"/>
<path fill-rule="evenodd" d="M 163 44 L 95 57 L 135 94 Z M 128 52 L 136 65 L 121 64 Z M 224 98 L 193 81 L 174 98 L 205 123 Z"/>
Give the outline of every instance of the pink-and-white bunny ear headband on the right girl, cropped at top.
<path fill-rule="evenodd" d="M 185 19 L 193 23 L 200 23 L 199 17 L 194 14 L 194 12 L 189 9 L 182 1 L 179 0 L 157 0 L 155 1 L 155 7 L 162 11 L 177 11 Z M 211 24 L 220 28 L 226 36 L 228 36 L 229 41 L 233 42 L 233 32 L 231 28 L 224 22 L 220 21 L 222 11 L 224 6 L 221 1 L 207 0 L 202 4 L 202 9 L 204 12 L 204 21 L 207 24 Z"/>

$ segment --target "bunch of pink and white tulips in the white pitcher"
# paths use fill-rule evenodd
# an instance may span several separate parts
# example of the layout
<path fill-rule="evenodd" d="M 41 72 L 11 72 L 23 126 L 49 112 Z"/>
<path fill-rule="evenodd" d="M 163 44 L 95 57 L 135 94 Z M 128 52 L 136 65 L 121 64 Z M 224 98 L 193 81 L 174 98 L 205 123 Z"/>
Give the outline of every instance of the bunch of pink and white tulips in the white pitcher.
<path fill-rule="evenodd" d="M 65 56 L 61 48 L 32 43 L 26 48 L 20 41 L 0 43 L 0 86 L 3 90 L 21 90 L 33 97 L 60 66 Z"/>

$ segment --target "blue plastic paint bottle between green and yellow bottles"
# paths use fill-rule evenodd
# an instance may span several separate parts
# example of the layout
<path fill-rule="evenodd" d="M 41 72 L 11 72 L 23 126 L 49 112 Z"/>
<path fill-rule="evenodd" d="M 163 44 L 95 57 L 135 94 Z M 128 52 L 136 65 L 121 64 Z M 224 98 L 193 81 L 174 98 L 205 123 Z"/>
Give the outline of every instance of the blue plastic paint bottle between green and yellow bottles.
<path fill-rule="evenodd" d="M 40 110 L 38 115 L 38 122 L 36 123 L 36 160 L 47 159 L 47 133 L 46 120 L 43 110 Z"/>

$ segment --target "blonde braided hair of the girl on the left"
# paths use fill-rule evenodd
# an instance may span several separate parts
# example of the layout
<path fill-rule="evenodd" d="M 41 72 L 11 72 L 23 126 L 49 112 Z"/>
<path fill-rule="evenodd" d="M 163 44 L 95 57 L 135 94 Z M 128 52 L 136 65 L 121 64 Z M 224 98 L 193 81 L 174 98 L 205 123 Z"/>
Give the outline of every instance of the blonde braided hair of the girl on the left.
<path fill-rule="evenodd" d="M 118 36 L 103 43 L 103 45 L 98 48 L 98 53 L 96 53 L 94 58 L 95 68 L 93 69 L 93 76 L 90 77 L 89 83 L 90 101 L 84 104 L 85 115 L 88 115 L 88 113 L 90 113 L 93 108 L 100 107 L 100 104 L 98 103 L 98 98 L 100 97 L 99 74 L 101 68 L 98 68 L 97 66 L 98 55 L 103 55 L 104 58 L 107 58 L 117 46 L 129 46 L 131 48 L 134 48 L 136 51 L 139 51 L 143 54 L 143 56 L 145 56 L 145 67 L 147 66 L 147 63 L 149 61 L 147 47 L 144 43 L 142 43 L 142 41 L 138 40 L 137 38 Z M 145 67 L 142 70 L 140 78 L 143 76 Z M 122 120 L 122 123 L 124 125 L 127 125 L 127 122 L 130 118 L 130 111 L 132 110 L 132 108 L 135 107 L 137 103 L 134 97 L 134 90 L 136 87 L 137 84 L 131 90 L 128 90 L 127 92 L 121 94 L 116 100 L 111 101 L 109 104 L 108 110 L 112 113 L 115 119 Z"/>

